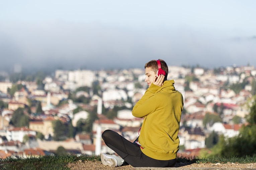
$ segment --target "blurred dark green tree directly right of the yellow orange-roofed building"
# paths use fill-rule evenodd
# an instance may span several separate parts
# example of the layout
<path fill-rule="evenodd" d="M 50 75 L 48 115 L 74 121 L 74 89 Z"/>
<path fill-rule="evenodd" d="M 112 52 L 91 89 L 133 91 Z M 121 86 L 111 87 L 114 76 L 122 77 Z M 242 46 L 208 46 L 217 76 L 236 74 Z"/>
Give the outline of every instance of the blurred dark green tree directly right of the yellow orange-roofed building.
<path fill-rule="evenodd" d="M 62 123 L 60 120 L 55 120 L 53 121 L 53 140 L 56 141 L 61 141 L 66 139 L 66 132 L 67 132 L 67 127 L 64 123 Z"/>

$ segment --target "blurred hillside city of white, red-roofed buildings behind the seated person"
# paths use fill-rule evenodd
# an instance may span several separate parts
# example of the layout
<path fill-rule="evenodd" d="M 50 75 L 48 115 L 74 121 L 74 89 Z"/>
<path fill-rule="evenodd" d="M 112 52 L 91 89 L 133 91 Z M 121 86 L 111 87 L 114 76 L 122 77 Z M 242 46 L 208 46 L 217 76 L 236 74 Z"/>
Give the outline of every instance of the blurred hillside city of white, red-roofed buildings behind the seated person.
<path fill-rule="evenodd" d="M 178 154 L 198 155 L 213 133 L 239 134 L 256 93 L 254 66 L 169 66 L 184 99 Z M 148 88 L 144 69 L 0 72 L 0 156 L 98 154 L 97 128 L 134 141 L 143 118 L 132 108 Z M 99 141 L 98 141 L 99 142 Z M 113 153 L 100 141 L 102 153 Z"/>

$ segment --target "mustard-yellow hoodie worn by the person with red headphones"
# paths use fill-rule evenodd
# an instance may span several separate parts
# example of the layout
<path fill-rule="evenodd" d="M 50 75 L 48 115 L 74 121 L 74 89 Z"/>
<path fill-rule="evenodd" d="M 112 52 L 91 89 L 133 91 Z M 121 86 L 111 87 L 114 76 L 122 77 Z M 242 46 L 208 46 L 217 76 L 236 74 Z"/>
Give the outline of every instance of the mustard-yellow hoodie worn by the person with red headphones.
<path fill-rule="evenodd" d="M 142 152 L 157 160 L 175 159 L 179 150 L 183 97 L 173 84 L 174 80 L 162 87 L 151 84 L 132 111 L 135 117 L 144 117 L 139 136 Z"/>

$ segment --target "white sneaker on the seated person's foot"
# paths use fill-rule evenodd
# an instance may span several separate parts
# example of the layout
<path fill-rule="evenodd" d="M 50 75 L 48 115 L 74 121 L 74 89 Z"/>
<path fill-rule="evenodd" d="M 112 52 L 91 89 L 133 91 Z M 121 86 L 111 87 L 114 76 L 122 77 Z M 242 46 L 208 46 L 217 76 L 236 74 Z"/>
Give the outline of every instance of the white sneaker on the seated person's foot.
<path fill-rule="evenodd" d="M 101 163 L 103 165 L 105 165 L 105 166 L 108 165 L 111 167 L 121 166 L 124 162 L 124 160 L 119 156 L 107 155 L 104 153 L 100 154 L 100 159 L 101 159 Z"/>

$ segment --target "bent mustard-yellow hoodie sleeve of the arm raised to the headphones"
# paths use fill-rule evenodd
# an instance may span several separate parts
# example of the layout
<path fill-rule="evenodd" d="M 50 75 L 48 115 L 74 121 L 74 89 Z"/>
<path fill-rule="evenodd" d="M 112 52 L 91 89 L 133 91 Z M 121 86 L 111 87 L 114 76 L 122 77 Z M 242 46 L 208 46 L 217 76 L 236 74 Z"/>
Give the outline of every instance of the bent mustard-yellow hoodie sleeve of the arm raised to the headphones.
<path fill-rule="evenodd" d="M 150 85 L 142 98 L 133 107 L 133 116 L 142 118 L 154 111 L 156 108 L 154 95 L 159 88 L 160 87 L 155 84 Z"/>

